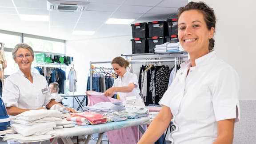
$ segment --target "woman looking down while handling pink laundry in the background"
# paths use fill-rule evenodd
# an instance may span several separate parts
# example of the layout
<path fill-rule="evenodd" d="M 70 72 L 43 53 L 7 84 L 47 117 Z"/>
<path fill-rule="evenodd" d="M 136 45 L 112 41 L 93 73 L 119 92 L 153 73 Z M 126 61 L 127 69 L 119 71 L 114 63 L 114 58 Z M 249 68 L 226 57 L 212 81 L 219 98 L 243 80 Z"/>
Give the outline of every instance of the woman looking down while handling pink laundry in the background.
<path fill-rule="evenodd" d="M 141 100 L 139 82 L 136 74 L 126 71 L 129 66 L 128 60 L 123 57 L 116 57 L 111 62 L 112 68 L 118 75 L 111 88 L 104 92 L 105 96 L 113 96 L 118 94 L 120 100 L 126 100 L 128 96 L 136 96 L 137 100 Z"/>

